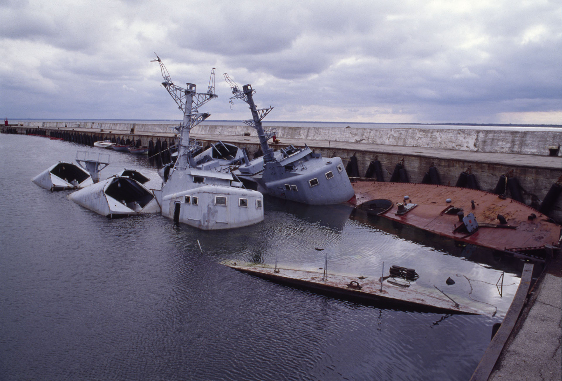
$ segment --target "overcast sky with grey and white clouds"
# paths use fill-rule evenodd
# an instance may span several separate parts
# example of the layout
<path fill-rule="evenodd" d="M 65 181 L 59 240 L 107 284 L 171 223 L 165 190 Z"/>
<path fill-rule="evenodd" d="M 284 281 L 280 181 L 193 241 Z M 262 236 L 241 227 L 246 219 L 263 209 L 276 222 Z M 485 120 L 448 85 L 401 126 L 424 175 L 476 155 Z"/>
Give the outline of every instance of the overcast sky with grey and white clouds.
<path fill-rule="evenodd" d="M 181 119 L 176 85 L 242 120 L 562 124 L 562 7 L 547 0 L 0 0 L 0 116 Z M 232 108 L 232 110 L 231 110 Z"/>

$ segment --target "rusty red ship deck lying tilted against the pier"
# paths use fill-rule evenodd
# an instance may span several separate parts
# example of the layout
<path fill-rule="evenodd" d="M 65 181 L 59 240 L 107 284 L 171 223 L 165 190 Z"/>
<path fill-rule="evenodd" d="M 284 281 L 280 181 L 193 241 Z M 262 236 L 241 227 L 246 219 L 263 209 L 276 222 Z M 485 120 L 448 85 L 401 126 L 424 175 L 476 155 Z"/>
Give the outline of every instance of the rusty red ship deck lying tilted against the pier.
<path fill-rule="evenodd" d="M 351 200 L 353 206 L 387 198 L 394 206 L 380 214 L 383 217 L 493 250 L 557 245 L 560 238 L 560 225 L 530 206 L 510 198 L 502 199 L 495 193 L 432 184 L 357 181 L 352 185 L 355 190 L 355 199 Z M 396 203 L 404 202 L 404 196 L 409 196 L 409 202 L 418 206 L 405 215 L 397 215 Z M 446 202 L 448 198 L 450 203 Z M 471 201 L 474 201 L 474 209 Z M 445 214 L 451 205 L 463 208 L 465 215 L 472 212 L 481 225 L 478 230 L 469 234 L 462 229 L 456 215 Z M 505 217 L 506 225 L 500 224 L 498 214 Z M 529 220 L 532 214 L 536 218 Z"/>

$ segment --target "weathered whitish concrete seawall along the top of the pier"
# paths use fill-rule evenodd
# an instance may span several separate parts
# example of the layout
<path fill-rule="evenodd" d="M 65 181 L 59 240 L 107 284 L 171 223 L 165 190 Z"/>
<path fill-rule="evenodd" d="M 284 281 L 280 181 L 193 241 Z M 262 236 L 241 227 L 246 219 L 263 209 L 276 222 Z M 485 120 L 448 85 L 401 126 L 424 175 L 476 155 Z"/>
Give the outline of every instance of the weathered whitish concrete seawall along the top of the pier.
<path fill-rule="evenodd" d="M 172 133 L 175 124 L 98 123 L 98 122 L 24 122 L 25 127 L 80 128 L 135 133 Z M 549 147 L 562 143 L 559 131 L 511 131 L 437 128 L 330 128 L 275 126 L 277 137 L 283 139 L 330 140 L 333 142 L 376 143 L 386 146 L 456 149 L 459 151 L 518 153 L 521 155 L 549 155 Z M 242 136 L 256 131 L 247 125 L 198 125 L 193 134 Z M 562 153 L 556 152 L 561 156 Z"/>

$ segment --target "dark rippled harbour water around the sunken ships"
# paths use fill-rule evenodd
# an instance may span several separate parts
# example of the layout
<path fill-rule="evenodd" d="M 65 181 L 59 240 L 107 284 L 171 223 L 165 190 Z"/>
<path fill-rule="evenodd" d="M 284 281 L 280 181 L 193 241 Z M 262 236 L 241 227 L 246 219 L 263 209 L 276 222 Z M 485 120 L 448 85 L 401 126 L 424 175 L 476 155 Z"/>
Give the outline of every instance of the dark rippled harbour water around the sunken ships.
<path fill-rule="evenodd" d="M 263 223 L 218 232 L 160 215 L 108 220 L 30 181 L 101 148 L 2 134 L 0 149 L 2 380 L 466 380 L 519 283 L 519 261 L 345 206 L 266 199 Z M 134 168 L 160 187 L 146 161 L 111 161 L 102 178 Z M 324 255 L 330 273 L 378 279 L 383 261 L 413 267 L 411 287 L 437 285 L 497 314 L 363 305 L 221 264 L 318 269 Z"/>

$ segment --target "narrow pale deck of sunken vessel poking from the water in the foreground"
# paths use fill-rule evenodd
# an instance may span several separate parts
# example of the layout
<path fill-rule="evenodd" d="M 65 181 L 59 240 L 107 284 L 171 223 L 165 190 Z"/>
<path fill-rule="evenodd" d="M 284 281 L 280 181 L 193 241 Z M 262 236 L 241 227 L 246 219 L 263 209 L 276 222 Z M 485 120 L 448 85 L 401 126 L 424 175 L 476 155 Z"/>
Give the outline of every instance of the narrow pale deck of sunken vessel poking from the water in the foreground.
<path fill-rule="evenodd" d="M 438 294 L 437 290 L 434 290 L 435 293 L 426 293 L 391 283 L 384 283 L 381 288 L 379 280 L 360 280 L 353 276 L 328 274 L 327 280 L 324 280 L 324 274 L 314 271 L 278 269 L 276 273 L 273 267 L 226 265 L 243 273 L 329 294 L 330 296 L 364 302 L 389 303 L 427 312 L 492 315 L 492 312 L 484 312 L 468 305 L 456 304 L 445 295 Z"/>

